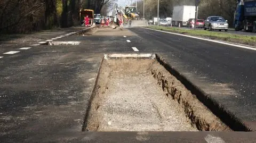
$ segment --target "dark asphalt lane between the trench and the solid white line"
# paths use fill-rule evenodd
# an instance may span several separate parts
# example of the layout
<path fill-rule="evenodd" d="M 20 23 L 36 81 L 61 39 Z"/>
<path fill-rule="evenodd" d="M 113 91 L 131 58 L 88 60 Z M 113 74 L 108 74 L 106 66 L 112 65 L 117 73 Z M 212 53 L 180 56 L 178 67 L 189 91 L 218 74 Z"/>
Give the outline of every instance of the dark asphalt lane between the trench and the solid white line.
<path fill-rule="evenodd" d="M 202 81 L 198 84 L 239 118 L 256 121 L 256 51 L 144 28 L 130 30 L 140 37 L 132 39 L 140 51 L 160 53 L 181 73 Z M 220 92 L 210 90 L 217 86 Z"/>

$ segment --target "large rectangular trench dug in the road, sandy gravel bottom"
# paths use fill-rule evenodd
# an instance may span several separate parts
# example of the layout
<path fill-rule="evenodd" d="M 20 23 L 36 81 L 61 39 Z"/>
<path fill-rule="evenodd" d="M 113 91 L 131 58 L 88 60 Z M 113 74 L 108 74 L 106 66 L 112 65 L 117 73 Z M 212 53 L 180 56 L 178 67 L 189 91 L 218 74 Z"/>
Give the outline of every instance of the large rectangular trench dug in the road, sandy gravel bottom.
<path fill-rule="evenodd" d="M 103 58 L 83 131 L 231 131 L 155 55 L 124 56 Z"/>

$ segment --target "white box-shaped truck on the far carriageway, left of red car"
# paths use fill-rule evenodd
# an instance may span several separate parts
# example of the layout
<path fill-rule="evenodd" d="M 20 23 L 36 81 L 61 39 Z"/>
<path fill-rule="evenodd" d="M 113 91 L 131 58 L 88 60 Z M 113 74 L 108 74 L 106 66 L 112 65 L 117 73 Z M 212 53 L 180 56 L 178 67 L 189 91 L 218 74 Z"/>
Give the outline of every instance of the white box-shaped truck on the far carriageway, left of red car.
<path fill-rule="evenodd" d="M 195 19 L 196 6 L 182 5 L 174 6 L 172 12 L 173 26 L 187 26 L 189 19 Z"/>

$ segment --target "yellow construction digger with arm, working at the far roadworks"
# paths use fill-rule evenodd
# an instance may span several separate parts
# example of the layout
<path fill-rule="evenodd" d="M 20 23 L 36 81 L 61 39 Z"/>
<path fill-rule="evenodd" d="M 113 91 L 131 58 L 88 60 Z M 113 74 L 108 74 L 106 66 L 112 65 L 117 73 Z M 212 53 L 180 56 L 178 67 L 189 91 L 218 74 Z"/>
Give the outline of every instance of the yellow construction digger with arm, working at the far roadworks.
<path fill-rule="evenodd" d="M 122 15 L 122 21 L 124 27 L 145 27 L 147 26 L 147 21 L 143 20 L 139 13 L 137 12 L 136 6 L 125 6 L 125 8 L 114 4 L 113 7 L 113 18 L 114 22 L 119 21 L 118 14 Z"/>

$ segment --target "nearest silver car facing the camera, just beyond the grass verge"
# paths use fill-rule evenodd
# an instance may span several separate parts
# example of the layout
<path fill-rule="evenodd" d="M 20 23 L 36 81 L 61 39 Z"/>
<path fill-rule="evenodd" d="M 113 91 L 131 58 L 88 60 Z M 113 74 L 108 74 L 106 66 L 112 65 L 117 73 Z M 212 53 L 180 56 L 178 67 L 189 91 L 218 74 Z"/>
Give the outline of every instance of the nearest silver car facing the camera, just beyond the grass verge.
<path fill-rule="evenodd" d="M 221 16 L 209 16 L 204 21 L 204 30 L 225 30 L 228 31 L 228 21 Z"/>

